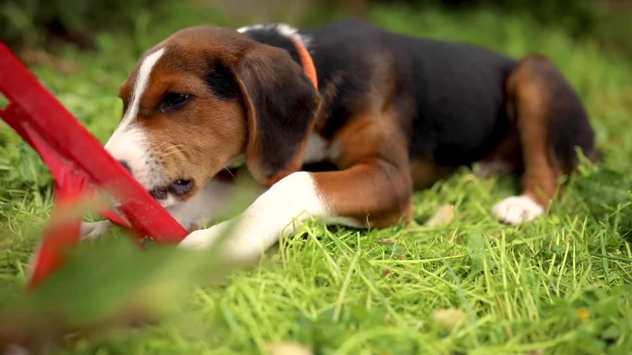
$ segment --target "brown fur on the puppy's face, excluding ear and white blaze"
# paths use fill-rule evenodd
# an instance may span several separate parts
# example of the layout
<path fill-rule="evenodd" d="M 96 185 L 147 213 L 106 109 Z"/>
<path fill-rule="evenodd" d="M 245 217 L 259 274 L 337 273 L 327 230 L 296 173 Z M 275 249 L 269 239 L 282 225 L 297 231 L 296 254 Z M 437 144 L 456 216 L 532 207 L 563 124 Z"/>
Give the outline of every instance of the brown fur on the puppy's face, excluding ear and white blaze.
<path fill-rule="evenodd" d="M 140 98 L 136 124 L 146 127 L 150 135 L 151 150 L 171 179 L 186 178 L 195 181 L 193 190 L 185 196 L 195 195 L 210 178 L 220 171 L 226 162 L 236 157 L 246 143 L 246 123 L 243 108 L 238 100 L 220 100 L 205 87 L 205 58 L 221 57 L 236 59 L 236 53 L 219 51 L 231 47 L 231 39 L 217 36 L 216 40 L 202 40 L 198 36 L 176 33 L 155 48 L 167 46 L 167 51 L 156 63 L 149 83 Z M 155 49 L 150 49 L 149 52 Z M 181 59 L 186 58 L 186 70 Z M 135 69 L 121 87 L 121 99 L 125 109 L 131 99 Z M 164 93 L 179 92 L 195 96 L 195 99 L 178 112 L 159 112 L 154 109 Z"/>

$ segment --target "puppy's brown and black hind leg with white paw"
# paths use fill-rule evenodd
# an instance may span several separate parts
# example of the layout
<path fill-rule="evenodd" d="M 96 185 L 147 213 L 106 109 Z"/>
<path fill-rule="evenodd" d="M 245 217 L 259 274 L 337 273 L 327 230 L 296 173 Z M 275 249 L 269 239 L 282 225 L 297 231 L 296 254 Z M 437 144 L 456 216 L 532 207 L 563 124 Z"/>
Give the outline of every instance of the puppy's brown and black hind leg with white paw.
<path fill-rule="evenodd" d="M 497 203 L 492 214 L 502 222 L 519 224 L 544 214 L 561 193 L 559 177 L 578 163 L 575 148 L 592 156 L 594 136 L 579 97 L 545 57 L 528 56 L 518 63 L 506 89 L 525 172 L 522 194 Z"/>

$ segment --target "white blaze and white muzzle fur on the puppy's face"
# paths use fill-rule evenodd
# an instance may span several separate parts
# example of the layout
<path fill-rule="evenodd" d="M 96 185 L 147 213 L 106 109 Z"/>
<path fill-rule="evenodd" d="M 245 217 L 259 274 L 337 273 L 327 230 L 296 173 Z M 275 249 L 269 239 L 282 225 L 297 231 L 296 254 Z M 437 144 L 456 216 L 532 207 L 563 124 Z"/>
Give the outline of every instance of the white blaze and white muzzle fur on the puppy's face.
<path fill-rule="evenodd" d="M 147 190 L 166 182 L 161 181 L 161 166 L 150 159 L 147 152 L 149 148 L 147 133 L 142 128 L 135 126 L 134 122 L 152 69 L 165 52 L 166 47 L 163 47 L 143 59 L 133 83 L 130 105 L 118 128 L 112 133 L 104 147 L 114 159 L 125 160 L 130 165 L 134 178 Z M 161 203 L 163 206 L 169 205 L 168 202 Z"/>

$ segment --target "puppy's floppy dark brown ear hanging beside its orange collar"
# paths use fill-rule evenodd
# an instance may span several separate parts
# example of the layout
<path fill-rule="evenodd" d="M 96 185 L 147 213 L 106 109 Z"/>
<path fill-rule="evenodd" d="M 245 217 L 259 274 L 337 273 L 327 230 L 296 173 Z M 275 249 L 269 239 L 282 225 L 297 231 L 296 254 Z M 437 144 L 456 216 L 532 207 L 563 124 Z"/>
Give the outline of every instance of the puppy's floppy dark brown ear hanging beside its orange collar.
<path fill-rule="evenodd" d="M 303 163 L 320 96 L 287 51 L 257 44 L 234 69 L 248 125 L 246 165 L 262 184 L 276 183 Z"/>

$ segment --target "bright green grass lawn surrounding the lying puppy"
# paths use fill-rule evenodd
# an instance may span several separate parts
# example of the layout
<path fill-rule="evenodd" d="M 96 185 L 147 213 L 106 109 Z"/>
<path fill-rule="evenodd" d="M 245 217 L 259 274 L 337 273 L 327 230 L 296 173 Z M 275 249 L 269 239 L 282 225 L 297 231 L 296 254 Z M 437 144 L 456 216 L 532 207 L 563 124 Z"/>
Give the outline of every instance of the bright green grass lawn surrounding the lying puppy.
<path fill-rule="evenodd" d="M 69 74 L 51 64 L 32 70 L 104 141 L 121 117 L 118 87 L 140 51 L 205 17 L 231 24 L 208 11 L 193 18 L 178 13 L 159 27 L 147 17 L 131 35 L 101 35 L 95 52 L 60 49 L 59 56 L 75 65 Z M 107 337 L 66 338 L 62 353 L 249 354 L 283 341 L 300 342 L 317 354 L 632 352 L 629 61 L 590 39 L 573 41 L 556 28 L 482 10 L 448 15 L 391 7 L 375 9 L 371 19 L 393 30 L 462 40 L 516 57 L 549 56 L 590 111 L 603 166 L 584 167 L 546 218 L 520 227 L 503 226 L 489 213 L 494 202 L 516 193 L 518 182 L 477 178 L 469 169 L 416 193 L 417 227 L 356 231 L 310 221 L 258 267 L 232 272 L 219 285 L 196 282 L 164 296 L 178 311 L 160 322 Z M 22 292 L 30 252 L 51 210 L 51 189 L 39 157 L 0 124 L 5 308 L 11 306 L 9 296 Z M 454 206 L 454 219 L 424 227 L 446 204 Z M 99 313 L 95 304 L 111 301 L 102 290 L 120 297 L 123 291 L 112 291 L 112 283 L 132 277 L 121 265 L 134 267 L 138 260 L 143 270 L 156 267 L 130 251 L 111 260 L 85 259 L 66 268 L 68 278 L 51 280 L 49 291 L 58 292 L 51 303 L 66 299 L 72 308 L 79 300 L 94 301 L 81 310 Z M 82 280 L 95 275 L 101 279 Z M 59 295 L 73 295 L 74 301 Z M 445 312 L 436 313 L 441 310 L 454 311 L 446 320 Z M 89 319 L 91 313 L 82 315 Z"/>

